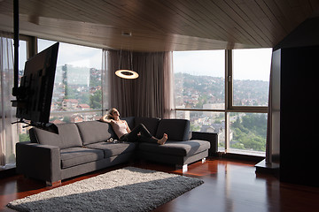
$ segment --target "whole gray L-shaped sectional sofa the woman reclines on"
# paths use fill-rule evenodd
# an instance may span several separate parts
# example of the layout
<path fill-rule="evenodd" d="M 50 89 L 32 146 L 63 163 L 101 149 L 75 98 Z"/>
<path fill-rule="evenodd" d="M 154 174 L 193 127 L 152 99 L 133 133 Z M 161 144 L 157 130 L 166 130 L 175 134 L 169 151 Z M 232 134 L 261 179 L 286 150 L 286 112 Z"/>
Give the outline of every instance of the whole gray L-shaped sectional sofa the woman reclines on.
<path fill-rule="evenodd" d="M 100 121 L 57 125 L 58 134 L 32 128 L 29 131 L 30 141 L 16 145 L 17 172 L 52 185 L 62 179 L 126 163 L 136 157 L 175 164 L 185 170 L 187 164 L 202 160 L 208 156 L 208 152 L 212 155 L 216 151 L 216 135 L 193 133 L 195 136 L 191 137 L 189 120 L 149 117 L 122 119 L 127 120 L 131 129 L 140 123 L 144 124 L 157 138 L 167 133 L 167 143 L 107 142 L 110 138 L 118 138 L 111 125 Z"/>

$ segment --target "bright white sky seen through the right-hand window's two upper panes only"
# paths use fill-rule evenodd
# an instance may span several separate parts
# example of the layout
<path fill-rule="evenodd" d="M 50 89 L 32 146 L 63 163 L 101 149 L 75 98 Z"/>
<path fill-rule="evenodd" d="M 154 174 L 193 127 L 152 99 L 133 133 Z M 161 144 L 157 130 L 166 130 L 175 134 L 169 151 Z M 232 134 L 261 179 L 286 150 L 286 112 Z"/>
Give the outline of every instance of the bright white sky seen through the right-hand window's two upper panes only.
<path fill-rule="evenodd" d="M 272 49 L 236 49 L 234 79 L 269 80 Z M 175 51 L 175 72 L 224 77 L 224 50 Z"/>

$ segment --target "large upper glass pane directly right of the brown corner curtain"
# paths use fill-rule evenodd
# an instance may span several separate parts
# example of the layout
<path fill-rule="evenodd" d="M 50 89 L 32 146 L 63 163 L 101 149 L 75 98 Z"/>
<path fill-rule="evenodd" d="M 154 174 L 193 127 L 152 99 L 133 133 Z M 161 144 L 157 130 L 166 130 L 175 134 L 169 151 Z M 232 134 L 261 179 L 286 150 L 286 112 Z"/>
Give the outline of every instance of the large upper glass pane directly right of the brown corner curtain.
<path fill-rule="evenodd" d="M 175 106 L 225 108 L 225 51 L 175 51 Z"/>

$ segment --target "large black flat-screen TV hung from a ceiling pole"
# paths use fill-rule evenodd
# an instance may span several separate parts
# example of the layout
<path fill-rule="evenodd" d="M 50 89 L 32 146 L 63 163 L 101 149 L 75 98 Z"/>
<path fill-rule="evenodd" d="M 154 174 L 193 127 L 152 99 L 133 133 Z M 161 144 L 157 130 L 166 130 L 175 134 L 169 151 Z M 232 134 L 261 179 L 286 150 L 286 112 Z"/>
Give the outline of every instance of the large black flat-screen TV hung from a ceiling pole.
<path fill-rule="evenodd" d="M 58 42 L 27 60 L 17 95 L 17 117 L 49 123 Z"/>

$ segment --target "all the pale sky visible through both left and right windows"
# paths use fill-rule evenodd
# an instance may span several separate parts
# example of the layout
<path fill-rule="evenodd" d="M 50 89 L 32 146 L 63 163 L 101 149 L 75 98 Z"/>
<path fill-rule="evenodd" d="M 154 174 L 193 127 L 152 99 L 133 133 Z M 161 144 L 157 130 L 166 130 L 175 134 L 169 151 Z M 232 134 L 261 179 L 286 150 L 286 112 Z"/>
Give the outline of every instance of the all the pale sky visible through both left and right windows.
<path fill-rule="evenodd" d="M 55 42 L 38 40 L 38 51 L 50 47 Z M 19 52 L 26 52 L 26 42 L 19 44 Z M 173 67 L 175 72 L 191 75 L 224 77 L 224 50 L 175 51 Z M 234 79 L 269 80 L 272 49 L 235 49 L 233 57 Z M 19 54 L 19 70 L 24 69 L 25 54 Z M 102 49 L 83 47 L 60 42 L 58 66 L 97 68 L 102 67 Z"/>

